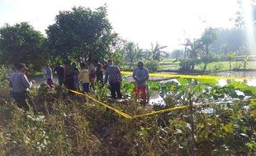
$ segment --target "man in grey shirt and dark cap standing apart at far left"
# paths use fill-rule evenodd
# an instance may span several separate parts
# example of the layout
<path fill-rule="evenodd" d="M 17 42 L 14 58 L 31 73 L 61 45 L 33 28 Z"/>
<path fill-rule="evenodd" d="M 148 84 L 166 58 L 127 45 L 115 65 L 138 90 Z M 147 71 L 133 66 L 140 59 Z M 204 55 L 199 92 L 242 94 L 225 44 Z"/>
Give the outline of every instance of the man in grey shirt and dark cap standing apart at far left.
<path fill-rule="evenodd" d="M 31 100 L 31 94 L 29 89 L 31 85 L 34 83 L 34 80 L 29 81 L 26 77 L 26 65 L 24 63 L 17 63 L 15 65 L 16 70 L 10 77 L 11 85 L 12 85 L 12 98 L 16 101 L 17 107 L 24 109 L 25 111 L 29 110 L 28 103 L 31 104 L 31 107 L 36 110 L 36 105 Z M 28 101 L 28 103 L 26 102 Z"/>

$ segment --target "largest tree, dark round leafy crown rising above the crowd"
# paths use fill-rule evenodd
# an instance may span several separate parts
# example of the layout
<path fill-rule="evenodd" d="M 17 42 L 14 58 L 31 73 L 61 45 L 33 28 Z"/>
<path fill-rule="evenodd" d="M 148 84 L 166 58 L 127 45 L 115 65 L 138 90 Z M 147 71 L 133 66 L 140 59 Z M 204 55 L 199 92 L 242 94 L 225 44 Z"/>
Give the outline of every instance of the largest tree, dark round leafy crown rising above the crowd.
<path fill-rule="evenodd" d="M 59 11 L 46 34 L 52 56 L 73 57 L 81 62 L 87 58 L 102 60 L 111 52 L 117 36 L 111 30 L 107 7 L 96 11 L 73 7 L 72 11 Z"/>

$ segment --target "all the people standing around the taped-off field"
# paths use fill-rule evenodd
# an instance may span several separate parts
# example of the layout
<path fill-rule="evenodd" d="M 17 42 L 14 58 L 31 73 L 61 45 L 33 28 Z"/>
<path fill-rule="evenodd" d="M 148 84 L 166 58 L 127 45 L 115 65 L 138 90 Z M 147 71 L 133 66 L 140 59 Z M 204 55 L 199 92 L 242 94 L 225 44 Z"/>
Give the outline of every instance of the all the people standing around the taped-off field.
<path fill-rule="evenodd" d="M 29 106 L 26 101 L 31 104 L 31 107 L 36 110 L 36 105 L 31 100 L 29 89 L 34 83 L 33 80 L 28 80 L 26 76 L 26 65 L 24 63 L 17 63 L 15 65 L 15 72 L 10 77 L 12 85 L 11 95 L 15 99 L 17 106 L 28 110 Z M 54 88 L 53 71 L 57 73 L 59 85 L 65 85 L 67 89 L 79 91 L 80 83 L 82 84 L 83 93 L 88 93 L 90 89 L 92 92 L 95 89 L 95 81 L 100 84 L 109 83 L 111 91 L 111 99 L 121 99 L 121 70 L 118 66 L 114 65 L 112 60 L 107 61 L 107 66 L 103 67 L 100 62 L 80 63 L 80 70 L 76 63 L 68 60 L 64 62 L 64 67 L 56 64 L 54 70 L 49 65 L 45 65 L 44 74 L 47 79 L 47 84 L 50 88 Z M 103 76 L 104 75 L 104 76 Z M 142 99 L 142 103 L 146 102 L 146 86 L 149 79 L 149 71 L 144 67 L 143 62 L 138 62 L 133 74 L 135 80 L 135 98 Z M 104 78 L 104 79 L 103 79 Z M 71 91 L 69 91 L 72 94 Z"/>

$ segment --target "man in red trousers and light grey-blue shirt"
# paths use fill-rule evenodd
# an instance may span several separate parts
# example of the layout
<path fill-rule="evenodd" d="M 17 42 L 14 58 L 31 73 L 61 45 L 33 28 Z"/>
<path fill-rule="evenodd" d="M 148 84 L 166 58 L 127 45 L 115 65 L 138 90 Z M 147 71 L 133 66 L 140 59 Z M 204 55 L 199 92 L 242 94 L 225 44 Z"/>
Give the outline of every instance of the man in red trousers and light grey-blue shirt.
<path fill-rule="evenodd" d="M 138 62 L 138 67 L 135 67 L 132 77 L 135 80 L 135 98 L 142 99 L 143 103 L 145 104 L 149 70 L 144 67 L 144 63 L 142 61 Z"/>

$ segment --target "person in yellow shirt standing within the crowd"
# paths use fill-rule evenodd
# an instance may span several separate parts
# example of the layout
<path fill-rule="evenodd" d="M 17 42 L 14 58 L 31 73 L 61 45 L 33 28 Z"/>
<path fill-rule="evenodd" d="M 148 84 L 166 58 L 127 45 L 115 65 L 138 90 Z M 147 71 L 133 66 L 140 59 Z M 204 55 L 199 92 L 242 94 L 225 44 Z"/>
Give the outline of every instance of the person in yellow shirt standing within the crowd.
<path fill-rule="evenodd" d="M 78 75 L 78 80 L 82 81 L 84 93 L 89 92 L 89 84 L 90 84 L 89 71 L 87 68 L 88 67 L 85 65 L 85 63 L 81 63 L 81 71 L 79 72 L 79 75 Z"/>

